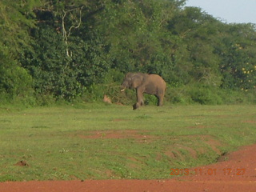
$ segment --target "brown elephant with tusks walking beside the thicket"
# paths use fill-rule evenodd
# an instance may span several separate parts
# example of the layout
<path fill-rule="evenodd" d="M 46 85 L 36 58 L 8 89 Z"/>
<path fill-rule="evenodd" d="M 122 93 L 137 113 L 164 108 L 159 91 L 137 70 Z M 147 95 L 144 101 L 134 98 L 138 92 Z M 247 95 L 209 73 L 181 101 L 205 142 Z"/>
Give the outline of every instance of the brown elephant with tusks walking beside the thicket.
<path fill-rule="evenodd" d="M 154 94 L 158 98 L 158 106 L 162 106 L 166 82 L 158 74 L 128 73 L 123 79 L 121 91 L 126 88 L 136 90 L 137 102 L 133 106 L 136 110 L 144 105 L 143 93 Z"/>

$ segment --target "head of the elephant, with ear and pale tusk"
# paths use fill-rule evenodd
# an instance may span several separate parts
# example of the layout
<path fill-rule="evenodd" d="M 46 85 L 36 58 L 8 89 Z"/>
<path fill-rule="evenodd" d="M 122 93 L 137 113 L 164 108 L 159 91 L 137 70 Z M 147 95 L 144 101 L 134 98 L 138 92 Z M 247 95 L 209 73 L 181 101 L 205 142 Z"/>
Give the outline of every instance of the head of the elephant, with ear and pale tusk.
<path fill-rule="evenodd" d="M 145 74 L 140 73 L 128 73 L 126 77 L 123 79 L 121 91 L 128 89 L 136 89 L 138 86 L 142 84 L 143 78 L 145 78 Z"/>

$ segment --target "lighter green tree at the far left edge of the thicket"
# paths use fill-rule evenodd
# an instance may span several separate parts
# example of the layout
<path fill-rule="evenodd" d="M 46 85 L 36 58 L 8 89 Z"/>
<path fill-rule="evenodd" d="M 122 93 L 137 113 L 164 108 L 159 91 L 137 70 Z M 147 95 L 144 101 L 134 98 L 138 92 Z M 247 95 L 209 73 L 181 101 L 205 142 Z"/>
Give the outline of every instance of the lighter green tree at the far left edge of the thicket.
<path fill-rule="evenodd" d="M 34 26 L 33 7 L 38 1 L 0 2 L 0 94 L 3 98 L 26 97 L 32 79 L 18 60 L 29 47 L 28 29 Z"/>

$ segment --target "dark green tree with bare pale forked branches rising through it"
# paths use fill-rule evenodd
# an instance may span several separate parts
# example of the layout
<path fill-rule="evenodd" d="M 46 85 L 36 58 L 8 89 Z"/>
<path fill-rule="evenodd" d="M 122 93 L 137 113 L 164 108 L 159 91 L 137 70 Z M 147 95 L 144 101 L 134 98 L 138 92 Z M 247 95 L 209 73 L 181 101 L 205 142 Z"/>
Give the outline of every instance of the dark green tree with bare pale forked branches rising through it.
<path fill-rule="evenodd" d="M 85 1 L 50 1 L 35 10 L 33 49 L 26 50 L 22 66 L 30 71 L 38 94 L 70 100 L 106 73 L 100 38 L 94 32 L 83 35 L 91 14 L 88 6 Z"/>

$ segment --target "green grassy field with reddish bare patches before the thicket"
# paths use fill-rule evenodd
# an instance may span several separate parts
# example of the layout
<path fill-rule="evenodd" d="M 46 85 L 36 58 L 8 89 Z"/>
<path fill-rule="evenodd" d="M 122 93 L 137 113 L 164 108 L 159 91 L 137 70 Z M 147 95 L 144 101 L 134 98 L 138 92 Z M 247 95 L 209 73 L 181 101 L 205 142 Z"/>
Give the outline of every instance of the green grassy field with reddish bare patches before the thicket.
<path fill-rule="evenodd" d="M 256 142 L 255 106 L 0 108 L 0 182 L 170 178 Z M 21 163 L 22 161 L 22 163 Z"/>

